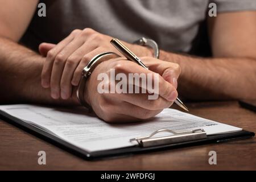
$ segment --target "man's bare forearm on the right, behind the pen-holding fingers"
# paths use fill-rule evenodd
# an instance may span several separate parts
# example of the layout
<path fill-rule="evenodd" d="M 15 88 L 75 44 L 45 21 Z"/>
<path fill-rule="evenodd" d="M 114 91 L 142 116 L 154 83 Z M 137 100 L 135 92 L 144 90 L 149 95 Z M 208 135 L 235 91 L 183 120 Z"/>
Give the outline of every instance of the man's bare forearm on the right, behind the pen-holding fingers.
<path fill-rule="evenodd" d="M 200 58 L 160 51 L 160 59 L 180 64 L 179 93 L 196 100 L 255 99 L 256 59 Z"/>

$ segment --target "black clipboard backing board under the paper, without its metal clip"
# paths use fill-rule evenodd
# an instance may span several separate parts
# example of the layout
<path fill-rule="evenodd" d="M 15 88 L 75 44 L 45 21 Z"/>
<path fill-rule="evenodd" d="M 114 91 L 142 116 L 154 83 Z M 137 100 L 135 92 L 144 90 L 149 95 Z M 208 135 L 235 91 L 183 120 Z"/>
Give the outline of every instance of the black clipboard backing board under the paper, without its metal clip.
<path fill-rule="evenodd" d="M 71 143 L 65 142 L 65 140 L 58 138 L 55 135 L 52 135 L 42 129 L 39 129 L 36 126 L 30 125 L 22 121 L 21 119 L 15 118 L 12 115 L 5 113 L 4 111 L 0 110 L 0 115 L 2 116 L 1 117 L 2 119 L 5 119 L 5 121 L 27 131 L 28 133 L 36 135 L 36 137 L 42 138 L 49 143 L 55 144 L 55 146 L 57 147 L 63 148 L 64 150 L 67 150 L 72 154 L 80 156 L 81 158 L 86 160 L 113 158 L 117 156 L 133 155 L 133 154 L 140 154 L 144 152 L 152 152 L 152 151 L 159 151 L 159 150 L 170 150 L 172 148 L 197 146 L 197 145 L 207 144 L 207 143 L 229 142 L 232 140 L 241 140 L 241 139 L 251 138 L 251 137 L 254 137 L 255 135 L 253 132 L 242 130 L 234 133 L 203 136 L 204 131 L 197 130 L 197 131 L 192 131 L 192 133 L 194 132 L 196 134 L 199 134 L 200 136 L 194 140 L 184 140 L 176 143 L 166 143 L 166 144 L 154 145 L 149 147 L 148 146 L 143 147 L 142 144 L 139 144 L 138 146 L 133 146 L 133 147 L 123 147 L 123 148 L 117 148 L 112 150 L 88 152 L 88 151 L 82 150 L 77 146 L 74 146 Z M 170 138 L 167 138 L 167 139 L 170 140 Z M 138 142 L 141 142 L 140 138 L 139 139 L 135 138 L 133 140 L 138 140 Z"/>

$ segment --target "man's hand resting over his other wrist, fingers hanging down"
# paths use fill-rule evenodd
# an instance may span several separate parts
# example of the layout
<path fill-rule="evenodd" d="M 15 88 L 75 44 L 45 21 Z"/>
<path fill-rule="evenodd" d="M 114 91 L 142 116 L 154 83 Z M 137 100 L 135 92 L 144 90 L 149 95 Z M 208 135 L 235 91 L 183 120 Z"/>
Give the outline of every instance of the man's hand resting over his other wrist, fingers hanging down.
<path fill-rule="evenodd" d="M 71 97 L 72 86 L 77 86 L 81 79 L 82 69 L 92 57 L 102 52 L 120 53 L 111 44 L 112 38 L 90 28 L 74 30 L 59 44 L 43 43 L 39 46 L 46 62 L 42 70 L 42 86 L 51 88 L 52 98 L 64 100 Z M 138 56 L 152 55 L 150 49 L 124 43 Z M 51 50 L 49 50 L 51 49 Z"/>

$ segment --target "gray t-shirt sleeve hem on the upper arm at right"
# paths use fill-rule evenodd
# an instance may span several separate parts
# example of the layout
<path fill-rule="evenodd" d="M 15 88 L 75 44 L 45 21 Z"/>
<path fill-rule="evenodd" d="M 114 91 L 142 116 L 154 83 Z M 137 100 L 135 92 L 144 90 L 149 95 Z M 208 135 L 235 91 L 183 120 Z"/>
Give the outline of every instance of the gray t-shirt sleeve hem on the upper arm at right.
<path fill-rule="evenodd" d="M 256 11 L 256 0 L 210 0 L 210 2 L 216 3 L 218 13 L 228 11 Z"/>

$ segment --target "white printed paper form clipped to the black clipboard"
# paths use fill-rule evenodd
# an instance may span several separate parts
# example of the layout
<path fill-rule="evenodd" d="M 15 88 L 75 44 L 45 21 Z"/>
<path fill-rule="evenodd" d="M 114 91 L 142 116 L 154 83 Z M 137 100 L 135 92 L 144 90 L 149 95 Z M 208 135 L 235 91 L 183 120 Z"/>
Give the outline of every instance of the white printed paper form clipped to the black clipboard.
<path fill-rule="evenodd" d="M 134 146 L 137 143 L 131 143 L 131 138 L 144 137 L 158 129 L 204 129 L 207 135 L 242 130 L 175 109 L 164 109 L 147 121 L 114 125 L 105 123 L 82 107 L 0 105 L 0 110 L 89 152 Z"/>

